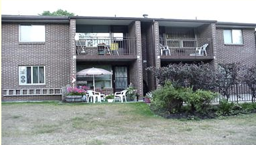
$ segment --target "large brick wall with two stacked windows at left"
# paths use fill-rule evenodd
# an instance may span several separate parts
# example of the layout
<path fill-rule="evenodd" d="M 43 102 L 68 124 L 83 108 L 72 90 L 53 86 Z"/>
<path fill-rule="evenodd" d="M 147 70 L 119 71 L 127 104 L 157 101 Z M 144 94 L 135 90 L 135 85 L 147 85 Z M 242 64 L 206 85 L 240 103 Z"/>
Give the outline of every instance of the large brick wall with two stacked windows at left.
<path fill-rule="evenodd" d="M 2 23 L 1 30 L 2 89 L 61 88 L 68 83 L 68 24 L 45 24 L 45 43 L 38 44 L 19 43 L 19 23 Z M 46 84 L 19 85 L 19 66 L 39 65 L 45 66 Z"/>

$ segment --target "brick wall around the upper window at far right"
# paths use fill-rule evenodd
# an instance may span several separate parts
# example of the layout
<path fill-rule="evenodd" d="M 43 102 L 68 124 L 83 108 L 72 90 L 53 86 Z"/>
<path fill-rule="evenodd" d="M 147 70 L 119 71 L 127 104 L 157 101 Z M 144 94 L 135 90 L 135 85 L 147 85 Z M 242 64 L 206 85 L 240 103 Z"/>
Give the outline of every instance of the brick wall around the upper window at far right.
<path fill-rule="evenodd" d="M 223 40 L 223 28 L 216 28 L 215 66 L 217 64 L 256 64 L 254 29 L 242 29 L 243 44 L 227 45 Z"/>

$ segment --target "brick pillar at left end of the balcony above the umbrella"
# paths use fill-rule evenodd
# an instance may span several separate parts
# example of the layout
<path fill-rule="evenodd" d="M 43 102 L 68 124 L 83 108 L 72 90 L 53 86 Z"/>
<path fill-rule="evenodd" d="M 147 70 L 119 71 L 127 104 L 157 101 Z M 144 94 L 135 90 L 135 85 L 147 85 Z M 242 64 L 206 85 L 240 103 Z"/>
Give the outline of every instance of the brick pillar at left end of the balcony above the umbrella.
<path fill-rule="evenodd" d="M 71 85 L 71 77 L 76 79 L 76 42 L 74 36 L 76 34 L 76 20 L 70 19 L 69 36 L 70 36 L 70 78 L 69 83 Z"/>

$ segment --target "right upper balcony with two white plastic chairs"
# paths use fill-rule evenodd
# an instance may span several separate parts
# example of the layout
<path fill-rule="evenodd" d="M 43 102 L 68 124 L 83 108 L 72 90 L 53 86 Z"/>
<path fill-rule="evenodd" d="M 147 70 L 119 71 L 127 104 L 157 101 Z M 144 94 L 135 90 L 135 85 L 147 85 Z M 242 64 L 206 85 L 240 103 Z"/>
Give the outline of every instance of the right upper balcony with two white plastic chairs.
<path fill-rule="evenodd" d="M 160 50 L 161 61 L 204 61 L 213 59 L 213 47 L 211 38 L 160 38 L 160 44 L 168 46 L 169 50 Z M 205 52 L 198 52 L 197 48 L 208 44 Z"/>

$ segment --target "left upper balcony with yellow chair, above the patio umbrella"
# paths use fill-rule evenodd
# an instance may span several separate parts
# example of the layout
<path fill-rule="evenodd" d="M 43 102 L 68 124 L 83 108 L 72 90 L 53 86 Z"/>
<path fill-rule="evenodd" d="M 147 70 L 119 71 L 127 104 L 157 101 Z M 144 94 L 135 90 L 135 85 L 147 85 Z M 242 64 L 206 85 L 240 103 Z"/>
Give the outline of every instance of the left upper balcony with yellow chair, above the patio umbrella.
<path fill-rule="evenodd" d="M 85 37 L 76 41 L 78 61 L 136 60 L 136 38 Z"/>

